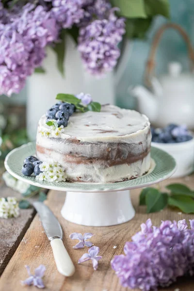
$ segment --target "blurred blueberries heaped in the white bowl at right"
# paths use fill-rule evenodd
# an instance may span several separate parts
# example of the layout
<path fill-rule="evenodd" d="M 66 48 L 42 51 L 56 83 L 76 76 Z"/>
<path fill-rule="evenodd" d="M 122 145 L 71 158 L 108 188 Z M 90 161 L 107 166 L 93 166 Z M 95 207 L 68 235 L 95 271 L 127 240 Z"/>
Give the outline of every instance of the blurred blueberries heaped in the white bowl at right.
<path fill-rule="evenodd" d="M 175 144 L 193 139 L 185 125 L 169 124 L 163 129 L 151 128 L 152 142 Z"/>

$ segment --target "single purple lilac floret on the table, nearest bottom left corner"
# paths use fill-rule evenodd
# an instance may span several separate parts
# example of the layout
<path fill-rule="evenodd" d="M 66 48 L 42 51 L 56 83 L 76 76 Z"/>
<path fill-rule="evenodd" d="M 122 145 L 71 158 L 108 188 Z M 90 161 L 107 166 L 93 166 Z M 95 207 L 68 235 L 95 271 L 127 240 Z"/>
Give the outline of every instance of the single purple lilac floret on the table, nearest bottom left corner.
<path fill-rule="evenodd" d="M 24 280 L 21 281 L 22 285 L 28 285 L 28 286 L 36 286 L 38 288 L 45 288 L 45 285 L 43 283 L 42 277 L 45 274 L 45 266 L 44 265 L 40 265 L 38 268 L 35 269 L 34 271 L 34 275 L 31 274 L 30 272 L 30 267 L 29 266 L 25 266 L 28 272 L 29 277 Z"/>

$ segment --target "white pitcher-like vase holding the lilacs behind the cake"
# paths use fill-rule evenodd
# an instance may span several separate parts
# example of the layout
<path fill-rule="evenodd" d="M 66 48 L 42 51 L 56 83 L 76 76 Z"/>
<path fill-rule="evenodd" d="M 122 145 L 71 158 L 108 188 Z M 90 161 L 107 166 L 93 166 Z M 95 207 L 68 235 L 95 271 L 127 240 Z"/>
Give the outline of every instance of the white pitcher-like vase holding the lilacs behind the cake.
<path fill-rule="evenodd" d="M 121 66 L 127 63 L 128 51 L 129 42 L 126 43 Z M 108 73 L 101 79 L 89 75 L 82 66 L 75 42 L 69 36 L 65 41 L 65 77 L 62 77 L 56 64 L 56 54 L 48 48 L 42 65 L 46 73 L 34 73 L 27 82 L 27 131 L 30 140 L 35 140 L 38 120 L 55 103 L 58 93 L 90 93 L 97 102 L 114 104 L 114 73 Z M 121 76 L 122 71 L 119 68 L 118 75 Z"/>

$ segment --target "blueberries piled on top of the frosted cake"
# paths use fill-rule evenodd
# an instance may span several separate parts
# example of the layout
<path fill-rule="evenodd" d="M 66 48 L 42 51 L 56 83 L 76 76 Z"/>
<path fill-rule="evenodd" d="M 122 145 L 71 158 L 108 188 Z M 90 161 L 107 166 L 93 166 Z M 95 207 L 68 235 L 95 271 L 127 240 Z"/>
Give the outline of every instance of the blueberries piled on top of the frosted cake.
<path fill-rule="evenodd" d="M 46 112 L 47 122 L 50 119 L 56 119 L 59 127 L 61 125 L 66 127 L 69 116 L 71 116 L 75 111 L 76 107 L 74 104 L 59 101 Z"/>

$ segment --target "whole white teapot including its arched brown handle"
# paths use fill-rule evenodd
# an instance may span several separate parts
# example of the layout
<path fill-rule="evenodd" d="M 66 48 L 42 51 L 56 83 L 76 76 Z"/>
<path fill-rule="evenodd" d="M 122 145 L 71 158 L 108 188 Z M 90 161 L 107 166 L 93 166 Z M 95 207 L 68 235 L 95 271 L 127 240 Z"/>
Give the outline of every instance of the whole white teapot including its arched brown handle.
<path fill-rule="evenodd" d="M 182 66 L 178 62 L 168 65 L 168 74 L 154 77 L 155 55 L 160 38 L 166 29 L 177 30 L 185 40 L 191 73 L 182 73 Z M 169 123 L 186 124 L 194 129 L 194 49 L 187 33 L 175 23 L 164 24 L 154 36 L 148 62 L 146 64 L 146 84 L 151 91 L 143 86 L 136 86 L 131 93 L 138 98 L 139 111 L 145 113 L 150 122 L 158 127 Z"/>

